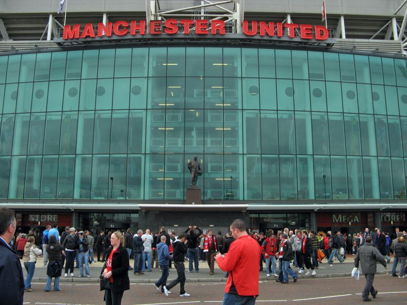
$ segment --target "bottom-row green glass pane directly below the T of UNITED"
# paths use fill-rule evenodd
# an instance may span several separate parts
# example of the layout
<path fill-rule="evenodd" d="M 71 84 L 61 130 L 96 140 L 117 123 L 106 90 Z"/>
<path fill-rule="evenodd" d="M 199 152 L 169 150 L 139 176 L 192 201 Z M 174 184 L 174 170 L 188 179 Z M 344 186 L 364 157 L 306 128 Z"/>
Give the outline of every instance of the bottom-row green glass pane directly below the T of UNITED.
<path fill-rule="evenodd" d="M 297 199 L 297 162 L 296 156 L 279 156 L 280 197 Z"/>

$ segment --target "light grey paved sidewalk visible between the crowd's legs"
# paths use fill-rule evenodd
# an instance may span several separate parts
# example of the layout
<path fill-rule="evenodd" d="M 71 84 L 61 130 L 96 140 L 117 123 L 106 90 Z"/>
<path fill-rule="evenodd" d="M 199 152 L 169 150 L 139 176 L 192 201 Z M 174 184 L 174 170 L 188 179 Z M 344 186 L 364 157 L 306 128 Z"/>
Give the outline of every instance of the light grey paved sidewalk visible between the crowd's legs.
<path fill-rule="evenodd" d="M 352 269 L 354 268 L 354 255 L 347 255 L 347 258 L 344 263 L 340 264 L 337 261 L 334 261 L 333 266 L 331 267 L 327 260 L 323 260 L 322 264 L 319 264 L 318 269 L 316 269 L 316 276 L 310 277 L 310 276 L 305 276 L 304 273 L 299 273 L 299 276 L 301 278 L 330 278 L 330 277 L 347 277 L 351 276 Z M 134 261 L 131 259 L 130 260 L 130 265 L 133 266 Z M 22 264 L 21 260 L 21 265 L 23 268 L 24 272 L 24 277 L 26 276 L 26 271 L 24 268 L 24 265 Z M 264 264 L 263 264 L 264 265 Z M 185 261 L 185 276 L 187 278 L 187 282 L 223 282 L 226 281 L 227 279 L 224 277 L 225 272 L 219 269 L 215 262 L 215 274 L 213 276 L 209 275 L 209 266 L 207 262 L 200 262 L 199 263 L 199 272 L 188 272 L 188 261 Z M 277 265 L 278 266 L 278 265 Z M 379 274 L 389 274 L 391 275 L 391 269 L 393 266 L 393 258 L 391 259 L 391 262 L 387 265 L 387 269 L 385 269 L 381 264 L 377 264 L 377 273 Z M 61 282 L 78 282 L 78 283 L 92 283 L 92 282 L 98 282 L 99 281 L 99 275 L 102 270 L 103 263 L 102 262 L 96 262 L 92 263 L 89 266 L 89 271 L 91 273 L 91 278 L 79 278 L 79 268 L 74 269 L 74 275 L 75 277 L 70 277 L 68 275 L 67 278 L 64 278 L 64 269 L 62 271 L 62 277 L 61 277 Z M 399 266 L 397 266 L 397 271 L 399 269 Z M 36 263 L 36 269 L 34 273 L 34 282 L 44 282 L 46 281 L 46 267 L 43 267 L 43 260 L 42 257 L 39 257 Z M 175 268 L 169 269 L 169 276 L 168 279 L 175 279 L 177 277 L 177 271 Z M 298 271 L 298 268 L 293 267 L 293 270 L 295 272 Z M 260 281 L 266 281 L 266 280 L 276 280 L 275 277 L 266 277 L 266 268 L 264 267 L 263 271 L 260 271 Z M 133 270 L 129 271 L 129 278 L 131 283 L 154 283 L 156 282 L 160 276 L 161 272 L 159 268 L 153 268 L 151 272 L 144 272 L 145 274 L 142 276 L 136 276 L 133 273 Z"/>

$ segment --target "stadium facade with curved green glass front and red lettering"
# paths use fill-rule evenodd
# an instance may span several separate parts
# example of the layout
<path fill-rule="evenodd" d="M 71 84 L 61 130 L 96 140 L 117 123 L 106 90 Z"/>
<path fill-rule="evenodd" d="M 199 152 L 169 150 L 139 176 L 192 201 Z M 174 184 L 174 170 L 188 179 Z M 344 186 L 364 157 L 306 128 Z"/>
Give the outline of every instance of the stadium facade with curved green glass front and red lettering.
<path fill-rule="evenodd" d="M 216 4 L 0 4 L 19 226 L 407 229 L 404 1 Z"/>

